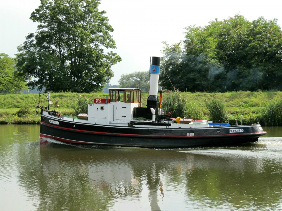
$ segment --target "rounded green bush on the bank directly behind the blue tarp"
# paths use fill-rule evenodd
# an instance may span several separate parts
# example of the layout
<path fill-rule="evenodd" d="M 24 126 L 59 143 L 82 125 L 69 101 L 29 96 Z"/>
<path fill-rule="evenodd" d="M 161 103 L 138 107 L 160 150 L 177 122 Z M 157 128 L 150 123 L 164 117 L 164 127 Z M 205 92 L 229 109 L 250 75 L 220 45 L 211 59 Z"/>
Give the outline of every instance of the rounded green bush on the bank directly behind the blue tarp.
<path fill-rule="evenodd" d="M 211 120 L 227 122 L 228 116 L 225 111 L 224 103 L 220 99 L 211 99 L 206 102 L 206 107 L 210 113 Z"/>

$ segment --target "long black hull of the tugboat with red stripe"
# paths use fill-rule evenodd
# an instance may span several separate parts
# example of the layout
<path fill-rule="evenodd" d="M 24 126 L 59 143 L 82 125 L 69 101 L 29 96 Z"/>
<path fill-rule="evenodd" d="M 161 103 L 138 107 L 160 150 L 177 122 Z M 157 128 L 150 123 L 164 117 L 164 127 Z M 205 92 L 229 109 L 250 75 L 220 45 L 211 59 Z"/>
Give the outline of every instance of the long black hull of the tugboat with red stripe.
<path fill-rule="evenodd" d="M 52 120 L 57 124 L 52 123 Z M 260 125 L 240 125 L 217 128 L 142 128 L 83 124 L 42 115 L 40 139 L 52 138 L 74 144 L 146 148 L 225 146 L 256 142 L 260 136 L 266 134 L 260 130 L 260 127 Z M 243 128 L 244 132 L 228 132 L 234 128 Z M 189 133 L 193 135 L 187 135 Z"/>

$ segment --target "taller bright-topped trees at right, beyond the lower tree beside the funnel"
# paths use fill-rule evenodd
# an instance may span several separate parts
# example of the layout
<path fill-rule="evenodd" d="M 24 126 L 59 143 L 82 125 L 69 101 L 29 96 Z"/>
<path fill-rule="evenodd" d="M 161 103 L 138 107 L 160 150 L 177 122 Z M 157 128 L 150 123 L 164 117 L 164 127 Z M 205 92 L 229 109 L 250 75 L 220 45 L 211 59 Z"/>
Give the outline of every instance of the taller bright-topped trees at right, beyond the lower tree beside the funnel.
<path fill-rule="evenodd" d="M 216 83 L 222 87 L 223 81 L 226 84 L 222 91 L 282 89 L 282 32 L 276 19 L 259 17 L 250 22 L 237 14 L 223 21 L 210 21 L 200 33 L 195 27 L 188 29 L 186 55 L 197 54 L 200 46 L 200 53 L 216 60 L 222 68 Z M 190 37 L 211 44 L 195 45 Z M 210 39 L 215 42 L 206 42 Z"/>

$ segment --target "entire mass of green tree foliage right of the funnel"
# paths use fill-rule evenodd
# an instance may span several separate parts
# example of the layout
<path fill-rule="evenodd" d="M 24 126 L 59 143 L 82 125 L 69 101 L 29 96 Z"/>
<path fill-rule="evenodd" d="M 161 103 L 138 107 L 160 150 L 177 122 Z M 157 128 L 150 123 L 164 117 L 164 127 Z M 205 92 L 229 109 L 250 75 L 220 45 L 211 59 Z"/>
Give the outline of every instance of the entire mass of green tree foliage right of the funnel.
<path fill-rule="evenodd" d="M 204 27 L 189 26 L 183 44 L 180 50 L 165 43 L 162 57 L 180 91 L 282 90 L 282 32 L 277 19 L 250 22 L 237 14 Z M 171 62 L 171 57 L 177 61 Z M 171 89 L 164 81 L 162 77 L 161 86 Z"/>

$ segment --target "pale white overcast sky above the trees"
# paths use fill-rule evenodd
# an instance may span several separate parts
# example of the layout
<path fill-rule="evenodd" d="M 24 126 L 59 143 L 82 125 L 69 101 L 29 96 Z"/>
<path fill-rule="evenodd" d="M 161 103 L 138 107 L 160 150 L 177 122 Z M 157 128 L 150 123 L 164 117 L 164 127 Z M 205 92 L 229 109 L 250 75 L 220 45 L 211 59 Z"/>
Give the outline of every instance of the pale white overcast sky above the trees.
<path fill-rule="evenodd" d="M 23 44 L 28 33 L 36 32 L 37 23 L 29 17 L 40 0 L 0 1 L 0 53 L 15 57 L 17 46 Z M 113 66 L 111 84 L 118 84 L 122 74 L 149 70 L 151 56 L 162 56 L 162 41 L 169 44 L 184 39 L 184 28 L 209 21 L 228 19 L 235 14 L 253 21 L 263 16 L 278 19 L 282 25 L 282 1 L 182 1 L 182 0 L 102 0 L 100 10 L 107 12 L 116 41 L 114 52 L 122 62 Z"/>

